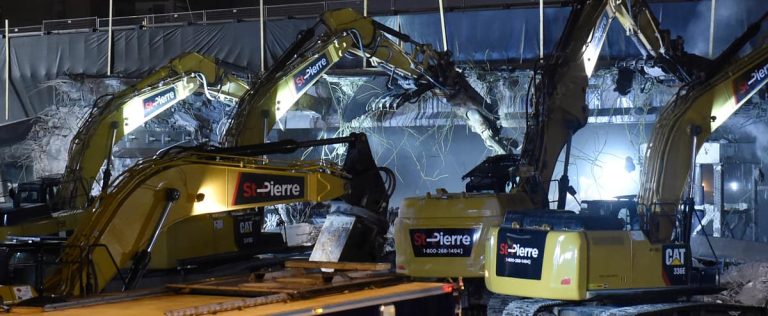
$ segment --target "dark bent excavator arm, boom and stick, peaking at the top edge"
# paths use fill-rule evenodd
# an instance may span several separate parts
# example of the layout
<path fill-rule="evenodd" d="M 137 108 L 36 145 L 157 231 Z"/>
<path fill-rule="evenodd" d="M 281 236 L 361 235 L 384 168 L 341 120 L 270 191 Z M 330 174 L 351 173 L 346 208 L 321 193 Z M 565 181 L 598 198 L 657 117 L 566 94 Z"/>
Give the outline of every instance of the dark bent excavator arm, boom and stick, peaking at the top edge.
<path fill-rule="evenodd" d="M 664 73 L 689 82 L 687 60 L 682 46 L 660 30 L 647 3 L 642 0 L 577 1 L 558 42 L 555 53 L 545 63 L 536 84 L 533 113 L 528 120 L 521 152 L 519 191 L 533 205 L 549 207 L 549 184 L 560 152 L 572 136 L 587 123 L 586 89 L 594 71 L 608 28 L 617 19 L 637 44 L 641 53 L 659 60 Z M 673 48 L 674 47 L 674 48 Z M 568 159 L 566 153 L 566 159 Z M 558 208 L 564 207 L 569 187 L 567 164 L 559 179 Z"/>

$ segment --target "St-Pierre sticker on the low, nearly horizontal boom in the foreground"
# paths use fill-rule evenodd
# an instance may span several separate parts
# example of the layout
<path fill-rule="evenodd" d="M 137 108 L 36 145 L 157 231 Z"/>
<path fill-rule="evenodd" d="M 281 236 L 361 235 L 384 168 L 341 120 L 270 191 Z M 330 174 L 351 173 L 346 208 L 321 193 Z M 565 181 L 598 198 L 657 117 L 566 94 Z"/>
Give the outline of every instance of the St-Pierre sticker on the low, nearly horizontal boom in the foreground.
<path fill-rule="evenodd" d="M 240 172 L 232 205 L 304 198 L 304 177 Z"/>

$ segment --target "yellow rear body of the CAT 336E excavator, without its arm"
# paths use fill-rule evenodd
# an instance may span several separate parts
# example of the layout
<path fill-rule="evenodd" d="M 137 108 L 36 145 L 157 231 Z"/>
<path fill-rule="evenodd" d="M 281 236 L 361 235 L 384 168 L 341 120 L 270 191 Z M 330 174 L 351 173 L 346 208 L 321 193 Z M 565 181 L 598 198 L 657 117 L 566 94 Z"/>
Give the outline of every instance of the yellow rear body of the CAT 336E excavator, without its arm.
<path fill-rule="evenodd" d="M 510 212 L 489 229 L 485 285 L 504 295 L 572 301 L 711 287 L 692 279 L 687 244 L 653 244 L 642 231 L 623 228 L 605 216 Z"/>

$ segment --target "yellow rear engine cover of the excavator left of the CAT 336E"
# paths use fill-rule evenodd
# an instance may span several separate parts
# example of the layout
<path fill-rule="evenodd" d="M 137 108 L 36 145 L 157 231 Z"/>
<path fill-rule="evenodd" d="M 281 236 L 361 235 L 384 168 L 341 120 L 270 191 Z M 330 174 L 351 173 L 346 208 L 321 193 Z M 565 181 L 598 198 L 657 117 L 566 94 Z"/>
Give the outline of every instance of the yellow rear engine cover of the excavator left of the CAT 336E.
<path fill-rule="evenodd" d="M 488 228 L 522 196 L 443 193 L 406 198 L 395 220 L 397 272 L 415 277 L 483 277 Z"/>

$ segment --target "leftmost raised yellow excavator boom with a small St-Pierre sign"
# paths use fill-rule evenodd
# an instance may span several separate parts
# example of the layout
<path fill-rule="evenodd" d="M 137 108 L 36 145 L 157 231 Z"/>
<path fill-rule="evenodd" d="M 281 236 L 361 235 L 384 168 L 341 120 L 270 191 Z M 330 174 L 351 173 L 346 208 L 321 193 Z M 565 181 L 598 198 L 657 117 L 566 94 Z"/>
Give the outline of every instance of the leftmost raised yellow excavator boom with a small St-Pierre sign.
<path fill-rule="evenodd" d="M 107 161 L 104 190 L 111 177 L 112 146 L 146 121 L 198 91 L 234 104 L 247 89 L 245 82 L 213 58 L 186 53 L 120 91 L 94 108 L 72 139 L 56 199 L 58 207 L 85 207 L 96 176 Z"/>

